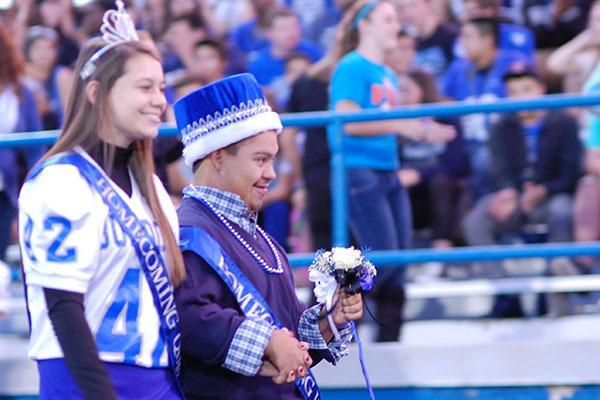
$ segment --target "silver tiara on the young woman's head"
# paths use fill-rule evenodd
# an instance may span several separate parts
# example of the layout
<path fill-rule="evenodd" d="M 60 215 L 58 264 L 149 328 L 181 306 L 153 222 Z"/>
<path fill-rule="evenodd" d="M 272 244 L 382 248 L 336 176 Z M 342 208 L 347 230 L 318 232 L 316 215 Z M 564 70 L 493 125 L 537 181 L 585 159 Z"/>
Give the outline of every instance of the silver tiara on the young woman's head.
<path fill-rule="evenodd" d="M 135 31 L 135 25 L 129 14 L 127 14 L 127 11 L 125 11 L 123 2 L 117 0 L 115 3 L 117 9 L 106 11 L 102 17 L 100 32 L 102 32 L 102 38 L 106 42 L 106 45 L 96 51 L 90 59 L 87 60 L 79 73 L 81 79 L 87 79 L 94 73 L 96 62 L 110 49 L 117 47 L 121 43 L 139 40 Z"/>

